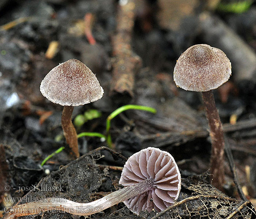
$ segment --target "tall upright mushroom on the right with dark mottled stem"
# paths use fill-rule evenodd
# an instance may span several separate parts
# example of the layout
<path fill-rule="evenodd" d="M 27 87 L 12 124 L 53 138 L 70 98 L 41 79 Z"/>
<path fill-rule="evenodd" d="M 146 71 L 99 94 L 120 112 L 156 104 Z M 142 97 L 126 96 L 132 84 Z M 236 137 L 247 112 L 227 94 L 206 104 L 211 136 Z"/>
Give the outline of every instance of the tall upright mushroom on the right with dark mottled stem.
<path fill-rule="evenodd" d="M 222 188 L 224 181 L 225 143 L 212 90 L 229 80 L 230 75 L 231 63 L 225 53 L 206 44 L 191 46 L 182 53 L 173 73 L 177 87 L 202 92 L 212 143 L 210 172 L 214 175 L 212 184 L 217 188 Z"/>

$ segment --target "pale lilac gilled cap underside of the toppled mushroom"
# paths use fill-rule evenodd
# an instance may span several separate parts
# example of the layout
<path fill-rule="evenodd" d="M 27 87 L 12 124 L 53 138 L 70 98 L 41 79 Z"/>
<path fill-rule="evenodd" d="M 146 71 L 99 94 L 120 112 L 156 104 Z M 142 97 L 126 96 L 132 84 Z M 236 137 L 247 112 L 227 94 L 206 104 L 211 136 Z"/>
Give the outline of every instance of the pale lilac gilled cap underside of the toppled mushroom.
<path fill-rule="evenodd" d="M 154 186 L 147 192 L 125 200 L 135 214 L 147 210 L 162 211 L 174 203 L 180 193 L 181 176 L 172 155 L 158 148 L 148 147 L 129 157 L 119 183 L 134 185 L 152 179 Z"/>

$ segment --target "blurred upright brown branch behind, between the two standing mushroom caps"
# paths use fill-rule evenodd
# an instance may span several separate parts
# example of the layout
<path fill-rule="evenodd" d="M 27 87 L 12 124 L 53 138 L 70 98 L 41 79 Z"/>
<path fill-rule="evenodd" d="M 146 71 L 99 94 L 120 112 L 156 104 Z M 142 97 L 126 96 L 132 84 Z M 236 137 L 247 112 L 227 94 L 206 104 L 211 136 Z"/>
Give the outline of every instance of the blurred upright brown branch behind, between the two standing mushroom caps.
<path fill-rule="evenodd" d="M 117 34 L 113 37 L 113 79 L 110 94 L 127 96 L 131 99 L 135 73 L 141 67 L 141 59 L 131 49 L 132 30 L 135 19 L 135 0 L 120 5 L 117 12 Z"/>

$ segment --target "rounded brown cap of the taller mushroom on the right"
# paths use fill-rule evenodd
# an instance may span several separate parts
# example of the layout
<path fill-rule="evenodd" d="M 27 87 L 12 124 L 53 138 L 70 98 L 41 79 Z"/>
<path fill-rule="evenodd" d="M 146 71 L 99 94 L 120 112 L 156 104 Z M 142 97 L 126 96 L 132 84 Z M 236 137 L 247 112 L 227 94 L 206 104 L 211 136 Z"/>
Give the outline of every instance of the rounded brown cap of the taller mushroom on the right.
<path fill-rule="evenodd" d="M 189 47 L 178 58 L 173 79 L 187 91 L 210 91 L 224 84 L 231 75 L 231 63 L 222 50 L 207 44 Z"/>

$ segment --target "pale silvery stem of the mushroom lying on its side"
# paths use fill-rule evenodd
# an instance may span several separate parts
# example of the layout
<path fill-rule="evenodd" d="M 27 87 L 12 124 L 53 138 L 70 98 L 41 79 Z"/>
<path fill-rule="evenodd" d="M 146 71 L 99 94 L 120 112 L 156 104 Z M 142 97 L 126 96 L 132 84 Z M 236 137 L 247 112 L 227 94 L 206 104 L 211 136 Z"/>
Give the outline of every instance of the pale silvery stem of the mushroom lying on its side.
<path fill-rule="evenodd" d="M 135 185 L 127 186 L 90 203 L 77 203 L 58 197 L 46 198 L 46 201 L 28 202 L 16 205 L 9 209 L 5 219 L 14 219 L 19 216 L 39 214 L 44 211 L 59 210 L 73 215 L 91 215 L 103 211 L 124 200 L 130 199 L 150 190 L 154 185 L 152 179 L 141 181 Z M 60 201 L 61 199 L 61 201 Z"/>

